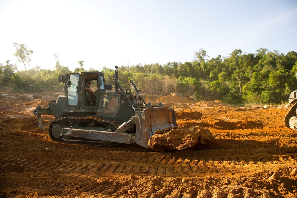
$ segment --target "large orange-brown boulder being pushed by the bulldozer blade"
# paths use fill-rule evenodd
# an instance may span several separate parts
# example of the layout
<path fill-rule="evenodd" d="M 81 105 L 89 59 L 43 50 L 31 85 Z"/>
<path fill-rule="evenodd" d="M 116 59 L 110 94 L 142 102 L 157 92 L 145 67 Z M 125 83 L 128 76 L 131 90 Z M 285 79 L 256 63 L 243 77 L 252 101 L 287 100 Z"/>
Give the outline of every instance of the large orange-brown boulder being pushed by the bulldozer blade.
<path fill-rule="evenodd" d="M 211 132 L 201 126 L 173 127 L 156 131 L 149 139 L 149 147 L 155 151 L 182 150 L 205 147 L 214 142 L 215 138 Z"/>

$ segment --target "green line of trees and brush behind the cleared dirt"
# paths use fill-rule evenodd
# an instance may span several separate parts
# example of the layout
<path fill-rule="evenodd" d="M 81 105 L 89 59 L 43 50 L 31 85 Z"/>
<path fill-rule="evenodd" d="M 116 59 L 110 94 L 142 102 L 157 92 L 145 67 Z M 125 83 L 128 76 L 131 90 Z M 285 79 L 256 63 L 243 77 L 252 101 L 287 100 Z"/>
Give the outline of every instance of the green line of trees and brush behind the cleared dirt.
<path fill-rule="evenodd" d="M 59 55 L 54 54 L 54 70 L 36 66 L 17 71 L 16 65 L 0 63 L 0 84 L 22 90 L 45 90 L 59 86 L 58 75 L 86 71 L 84 61 L 78 61 L 75 71 L 61 66 Z M 95 71 L 90 68 L 88 71 Z M 106 84 L 114 84 L 114 70 L 103 67 Z M 287 103 L 290 92 L 296 90 L 297 53 L 279 54 L 266 48 L 254 54 L 234 50 L 228 57 L 210 58 L 202 48 L 190 62 L 167 64 L 137 64 L 119 67 L 119 82 L 130 88 L 133 80 L 138 89 L 149 95 L 178 93 L 197 100 L 221 100 L 234 105 L 251 103 Z M 60 89 L 62 89 L 60 87 Z"/>

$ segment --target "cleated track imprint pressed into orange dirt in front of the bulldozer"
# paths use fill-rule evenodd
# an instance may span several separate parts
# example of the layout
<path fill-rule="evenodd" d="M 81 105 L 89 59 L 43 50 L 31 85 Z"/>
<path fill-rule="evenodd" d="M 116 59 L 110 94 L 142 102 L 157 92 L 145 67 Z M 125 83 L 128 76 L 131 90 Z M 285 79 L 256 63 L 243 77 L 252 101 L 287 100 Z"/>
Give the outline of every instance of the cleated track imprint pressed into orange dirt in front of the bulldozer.
<path fill-rule="evenodd" d="M 137 174 L 137 175 L 172 175 L 175 173 L 187 173 L 196 175 L 200 170 L 191 167 L 189 164 L 184 165 L 168 165 L 158 163 L 132 164 L 127 162 L 110 162 L 106 164 L 81 164 L 77 161 L 65 162 L 47 162 L 47 161 L 28 161 L 26 159 L 16 158 L 0 158 L 0 166 L 22 168 L 24 171 L 35 169 L 35 171 L 50 171 L 50 172 L 104 172 L 117 174 Z"/>

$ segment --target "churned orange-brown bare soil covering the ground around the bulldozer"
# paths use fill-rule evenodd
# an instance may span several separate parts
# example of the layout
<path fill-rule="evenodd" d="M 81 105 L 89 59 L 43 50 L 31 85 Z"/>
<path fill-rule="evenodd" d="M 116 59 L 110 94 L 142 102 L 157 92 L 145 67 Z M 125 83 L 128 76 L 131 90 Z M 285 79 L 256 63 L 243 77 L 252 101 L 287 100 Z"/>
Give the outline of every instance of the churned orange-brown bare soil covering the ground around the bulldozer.
<path fill-rule="evenodd" d="M 297 131 L 289 108 L 246 108 L 176 94 L 147 96 L 203 126 L 216 143 L 156 152 L 137 144 L 53 142 L 32 110 L 61 93 L 0 93 L 0 197 L 297 197 Z M 43 126 L 54 120 L 42 116 Z"/>

